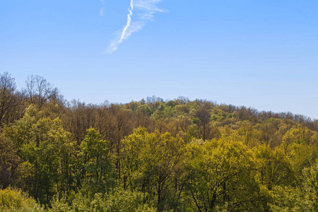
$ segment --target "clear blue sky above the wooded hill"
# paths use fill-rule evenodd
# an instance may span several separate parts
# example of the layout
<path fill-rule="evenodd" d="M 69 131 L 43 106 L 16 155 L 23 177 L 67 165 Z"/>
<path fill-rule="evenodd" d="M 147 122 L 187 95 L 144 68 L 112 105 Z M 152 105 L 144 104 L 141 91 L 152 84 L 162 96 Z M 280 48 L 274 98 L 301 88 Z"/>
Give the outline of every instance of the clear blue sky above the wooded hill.
<path fill-rule="evenodd" d="M 130 0 L 0 1 L 0 72 L 18 88 L 44 76 L 67 100 L 183 95 L 318 119 L 317 0 L 147 1 L 111 54 Z"/>

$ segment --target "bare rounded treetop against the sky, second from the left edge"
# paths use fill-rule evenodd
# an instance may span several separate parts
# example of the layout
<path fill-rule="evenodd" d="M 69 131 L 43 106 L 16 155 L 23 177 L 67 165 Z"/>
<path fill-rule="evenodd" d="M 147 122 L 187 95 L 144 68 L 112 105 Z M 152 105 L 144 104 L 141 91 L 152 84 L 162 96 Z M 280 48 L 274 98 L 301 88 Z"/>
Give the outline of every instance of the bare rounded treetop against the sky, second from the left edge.
<path fill-rule="evenodd" d="M 26 93 L 30 101 L 37 105 L 41 109 L 42 105 L 50 100 L 51 98 L 57 96 L 59 91 L 57 88 L 53 88 L 51 83 L 47 82 L 45 78 L 38 75 L 30 75 L 25 81 Z"/>

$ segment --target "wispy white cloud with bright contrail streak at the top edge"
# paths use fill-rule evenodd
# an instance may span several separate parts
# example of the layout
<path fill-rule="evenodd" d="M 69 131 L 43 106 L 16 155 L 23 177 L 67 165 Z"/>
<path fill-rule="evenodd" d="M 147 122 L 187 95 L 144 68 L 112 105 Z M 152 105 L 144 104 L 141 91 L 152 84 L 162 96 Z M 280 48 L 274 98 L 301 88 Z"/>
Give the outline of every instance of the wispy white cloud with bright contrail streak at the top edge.
<path fill-rule="evenodd" d="M 156 12 L 163 12 L 156 6 L 163 0 L 131 0 L 129 13 L 127 14 L 127 21 L 124 28 L 118 33 L 117 37 L 110 42 L 106 52 L 112 54 L 118 49 L 118 46 L 127 40 L 132 33 L 136 33 L 143 28 L 144 25 L 150 20 L 153 20 L 153 15 Z M 138 10 L 137 18 L 133 20 L 134 10 Z"/>

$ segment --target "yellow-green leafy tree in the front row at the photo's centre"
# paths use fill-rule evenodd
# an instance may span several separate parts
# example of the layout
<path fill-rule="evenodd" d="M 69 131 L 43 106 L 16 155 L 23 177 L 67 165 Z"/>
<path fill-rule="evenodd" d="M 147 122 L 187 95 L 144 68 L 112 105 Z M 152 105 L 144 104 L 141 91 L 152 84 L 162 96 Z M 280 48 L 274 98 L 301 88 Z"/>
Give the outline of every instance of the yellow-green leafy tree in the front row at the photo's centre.
<path fill-rule="evenodd" d="M 173 205 L 177 205 L 184 187 L 180 180 L 184 141 L 159 131 L 148 134 L 139 127 L 126 136 L 122 145 L 125 187 L 153 194 L 158 211 L 175 209 Z"/>

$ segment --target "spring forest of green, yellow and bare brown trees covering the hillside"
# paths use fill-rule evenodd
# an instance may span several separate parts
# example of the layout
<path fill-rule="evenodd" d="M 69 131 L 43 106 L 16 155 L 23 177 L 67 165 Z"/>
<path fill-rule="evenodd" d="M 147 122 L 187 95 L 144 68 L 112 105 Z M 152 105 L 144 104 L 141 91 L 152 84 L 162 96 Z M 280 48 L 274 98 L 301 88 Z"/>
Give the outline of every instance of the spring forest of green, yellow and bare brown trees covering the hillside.
<path fill-rule="evenodd" d="M 318 211 L 318 120 L 0 77 L 0 211 Z"/>

